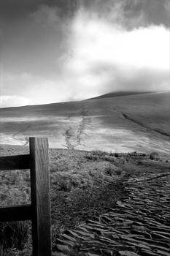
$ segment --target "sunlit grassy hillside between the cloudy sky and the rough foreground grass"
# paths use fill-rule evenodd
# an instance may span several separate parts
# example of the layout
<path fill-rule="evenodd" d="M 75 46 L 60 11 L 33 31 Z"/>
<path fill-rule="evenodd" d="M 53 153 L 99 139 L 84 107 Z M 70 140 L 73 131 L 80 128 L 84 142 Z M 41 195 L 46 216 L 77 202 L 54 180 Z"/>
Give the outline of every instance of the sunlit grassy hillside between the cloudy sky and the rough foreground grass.
<path fill-rule="evenodd" d="M 1 109 L 0 143 L 47 136 L 53 148 L 169 154 L 170 93 Z"/>

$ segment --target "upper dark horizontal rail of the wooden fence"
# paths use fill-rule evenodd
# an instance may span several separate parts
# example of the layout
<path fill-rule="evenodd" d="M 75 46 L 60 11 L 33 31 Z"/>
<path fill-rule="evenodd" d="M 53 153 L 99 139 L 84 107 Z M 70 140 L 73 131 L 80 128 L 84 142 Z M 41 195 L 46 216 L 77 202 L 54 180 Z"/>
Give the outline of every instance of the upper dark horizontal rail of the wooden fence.
<path fill-rule="evenodd" d="M 29 169 L 29 154 L 19 156 L 0 157 L 0 170 Z"/>

